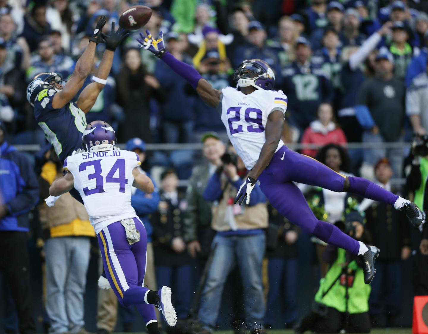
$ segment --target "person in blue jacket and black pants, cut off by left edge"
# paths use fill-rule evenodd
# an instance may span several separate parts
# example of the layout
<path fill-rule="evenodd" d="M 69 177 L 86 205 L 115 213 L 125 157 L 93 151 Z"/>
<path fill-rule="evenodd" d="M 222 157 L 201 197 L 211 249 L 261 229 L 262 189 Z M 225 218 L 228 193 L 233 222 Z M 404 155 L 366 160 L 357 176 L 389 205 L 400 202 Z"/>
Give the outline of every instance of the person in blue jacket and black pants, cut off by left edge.
<path fill-rule="evenodd" d="M 27 251 L 29 211 L 37 204 L 39 184 L 24 154 L 9 146 L 0 121 L 0 269 L 18 313 L 19 332 L 36 333 Z"/>

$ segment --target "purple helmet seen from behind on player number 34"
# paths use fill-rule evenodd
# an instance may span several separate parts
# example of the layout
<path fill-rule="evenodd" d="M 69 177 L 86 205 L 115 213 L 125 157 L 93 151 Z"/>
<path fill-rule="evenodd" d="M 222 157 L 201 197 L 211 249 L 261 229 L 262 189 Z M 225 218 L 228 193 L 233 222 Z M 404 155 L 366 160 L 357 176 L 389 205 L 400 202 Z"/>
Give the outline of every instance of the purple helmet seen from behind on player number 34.
<path fill-rule="evenodd" d="M 93 121 L 83 131 L 83 148 L 88 152 L 111 151 L 116 146 L 113 127 L 104 121 Z"/>

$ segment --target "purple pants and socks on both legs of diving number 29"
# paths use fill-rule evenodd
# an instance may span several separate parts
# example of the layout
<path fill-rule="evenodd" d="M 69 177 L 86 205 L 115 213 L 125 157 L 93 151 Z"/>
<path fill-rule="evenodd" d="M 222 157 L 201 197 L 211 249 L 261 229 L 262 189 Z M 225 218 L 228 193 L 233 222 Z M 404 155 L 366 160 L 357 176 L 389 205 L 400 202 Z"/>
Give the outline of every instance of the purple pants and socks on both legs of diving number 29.
<path fill-rule="evenodd" d="M 343 233 L 333 224 L 318 220 L 309 208 L 299 188 L 291 182 L 319 186 L 336 192 L 343 191 L 345 176 L 336 173 L 319 161 L 291 151 L 285 145 L 273 154 L 269 166 L 259 176 L 260 189 L 270 204 L 290 222 L 307 234 L 317 236 L 332 245 L 358 254 L 357 240 Z M 394 205 L 398 196 L 361 177 L 349 177 L 348 192 L 375 201 Z"/>

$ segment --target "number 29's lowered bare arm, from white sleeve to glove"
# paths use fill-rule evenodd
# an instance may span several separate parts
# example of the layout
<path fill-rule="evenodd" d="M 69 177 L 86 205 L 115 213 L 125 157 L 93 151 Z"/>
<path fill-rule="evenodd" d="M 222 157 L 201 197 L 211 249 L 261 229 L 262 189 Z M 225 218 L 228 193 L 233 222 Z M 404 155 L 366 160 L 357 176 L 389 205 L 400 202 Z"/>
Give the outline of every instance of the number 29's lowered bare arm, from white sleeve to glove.
<path fill-rule="evenodd" d="M 282 128 L 284 127 L 284 114 L 282 111 L 275 110 L 268 116 L 268 121 L 265 127 L 266 142 L 260 151 L 259 160 L 256 165 L 251 169 L 248 177 L 257 180 L 262 174 L 262 171 L 269 165 L 276 148 L 278 147 L 279 140 L 282 136 Z"/>

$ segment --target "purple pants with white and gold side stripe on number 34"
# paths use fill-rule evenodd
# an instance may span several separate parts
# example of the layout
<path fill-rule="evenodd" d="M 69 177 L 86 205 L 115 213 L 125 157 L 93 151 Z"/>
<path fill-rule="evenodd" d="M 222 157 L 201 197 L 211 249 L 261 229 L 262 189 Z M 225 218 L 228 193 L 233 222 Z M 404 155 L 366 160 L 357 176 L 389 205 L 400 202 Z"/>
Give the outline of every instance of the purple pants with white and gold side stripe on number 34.
<path fill-rule="evenodd" d="M 147 289 L 146 274 L 147 233 L 143 223 L 134 218 L 140 231 L 140 241 L 129 245 L 125 228 L 120 222 L 108 225 L 98 234 L 104 272 L 110 286 L 123 306 L 136 305 L 144 323 L 155 322 L 155 307 L 144 302 Z"/>

